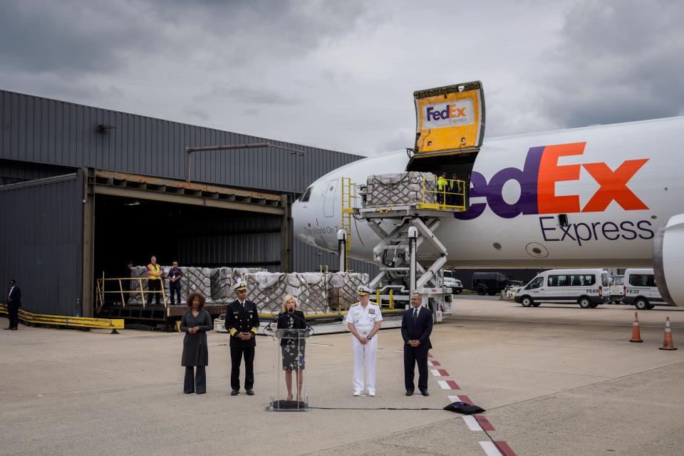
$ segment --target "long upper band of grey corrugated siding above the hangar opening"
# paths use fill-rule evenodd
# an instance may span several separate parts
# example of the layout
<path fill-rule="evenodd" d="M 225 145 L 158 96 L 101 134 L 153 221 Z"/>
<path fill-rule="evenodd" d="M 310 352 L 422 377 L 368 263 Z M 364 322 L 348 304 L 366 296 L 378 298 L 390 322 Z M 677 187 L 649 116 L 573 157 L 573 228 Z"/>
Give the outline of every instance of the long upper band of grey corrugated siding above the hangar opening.
<path fill-rule="evenodd" d="M 114 128 L 99 135 L 98 124 Z M 362 158 L 6 90 L 0 90 L 0 125 L 0 158 L 173 179 L 185 178 L 185 147 L 271 142 L 305 150 L 304 157 L 274 147 L 193 154 L 192 180 L 277 192 L 302 192 Z"/>

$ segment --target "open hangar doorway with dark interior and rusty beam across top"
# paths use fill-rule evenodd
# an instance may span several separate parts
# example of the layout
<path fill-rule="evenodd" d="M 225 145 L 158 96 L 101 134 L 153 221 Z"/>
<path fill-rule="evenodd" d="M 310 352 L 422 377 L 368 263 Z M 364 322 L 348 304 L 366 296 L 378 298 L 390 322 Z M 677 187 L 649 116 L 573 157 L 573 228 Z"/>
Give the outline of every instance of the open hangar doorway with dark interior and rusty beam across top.
<path fill-rule="evenodd" d="M 286 195 L 90 170 L 93 278 L 128 276 L 128 261 L 291 271 Z M 118 291 L 116 281 L 106 290 Z M 105 294 L 105 302 L 121 301 Z M 168 301 L 168 297 L 167 297 Z M 93 301 L 95 304 L 97 301 Z"/>

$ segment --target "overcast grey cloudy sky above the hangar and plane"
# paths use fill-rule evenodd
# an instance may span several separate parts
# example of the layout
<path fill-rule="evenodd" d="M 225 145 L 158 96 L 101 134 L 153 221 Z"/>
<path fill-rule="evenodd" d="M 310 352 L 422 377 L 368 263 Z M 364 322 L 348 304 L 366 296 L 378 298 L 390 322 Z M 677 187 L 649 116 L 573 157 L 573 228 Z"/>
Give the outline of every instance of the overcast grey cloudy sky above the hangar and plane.
<path fill-rule="evenodd" d="M 487 137 L 684 114 L 684 2 L 463 5 L 3 0 L 0 88 L 362 155 L 465 81 Z"/>

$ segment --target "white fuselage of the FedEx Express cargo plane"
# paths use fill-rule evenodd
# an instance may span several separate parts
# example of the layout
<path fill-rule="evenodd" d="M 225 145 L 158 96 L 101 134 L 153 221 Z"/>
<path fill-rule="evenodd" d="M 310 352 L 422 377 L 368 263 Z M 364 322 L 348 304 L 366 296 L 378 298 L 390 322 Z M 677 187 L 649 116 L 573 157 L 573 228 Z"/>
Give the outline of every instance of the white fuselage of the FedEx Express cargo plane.
<path fill-rule="evenodd" d="M 683 117 L 485 140 L 470 209 L 435 232 L 445 267 L 651 267 L 656 230 L 684 212 L 683 143 Z M 364 184 L 408 161 L 389 152 L 321 177 L 294 204 L 295 234 L 336 252 L 341 177 Z M 351 257 L 371 261 L 378 236 L 362 220 L 351 232 Z M 419 258 L 433 256 L 421 247 Z"/>

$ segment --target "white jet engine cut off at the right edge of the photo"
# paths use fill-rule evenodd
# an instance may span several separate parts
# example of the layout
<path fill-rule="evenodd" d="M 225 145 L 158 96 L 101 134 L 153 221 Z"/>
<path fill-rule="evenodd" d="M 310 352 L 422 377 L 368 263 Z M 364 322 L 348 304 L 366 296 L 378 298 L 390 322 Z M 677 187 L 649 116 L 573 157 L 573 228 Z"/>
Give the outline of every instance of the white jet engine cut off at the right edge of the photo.
<path fill-rule="evenodd" d="M 653 272 L 660 296 L 684 306 L 684 214 L 670 217 L 653 240 Z"/>

